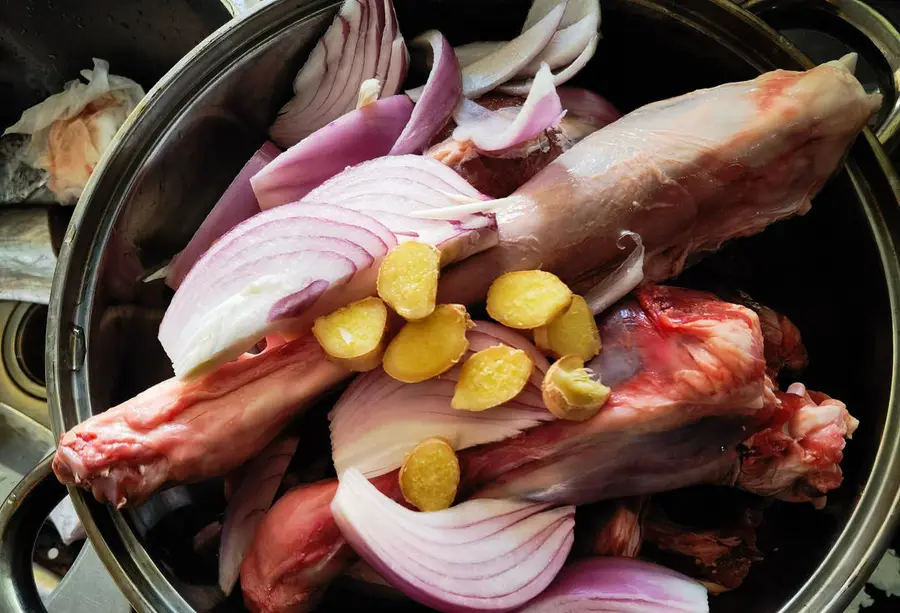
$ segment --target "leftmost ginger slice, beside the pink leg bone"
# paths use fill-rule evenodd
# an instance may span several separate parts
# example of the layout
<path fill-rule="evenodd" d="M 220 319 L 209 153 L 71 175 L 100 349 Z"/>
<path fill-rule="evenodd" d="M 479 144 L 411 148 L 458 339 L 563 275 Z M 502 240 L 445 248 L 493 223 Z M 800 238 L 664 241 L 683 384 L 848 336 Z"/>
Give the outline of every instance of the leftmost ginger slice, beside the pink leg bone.
<path fill-rule="evenodd" d="M 364 298 L 317 318 L 313 334 L 332 360 L 366 372 L 381 364 L 387 315 L 381 299 Z"/>

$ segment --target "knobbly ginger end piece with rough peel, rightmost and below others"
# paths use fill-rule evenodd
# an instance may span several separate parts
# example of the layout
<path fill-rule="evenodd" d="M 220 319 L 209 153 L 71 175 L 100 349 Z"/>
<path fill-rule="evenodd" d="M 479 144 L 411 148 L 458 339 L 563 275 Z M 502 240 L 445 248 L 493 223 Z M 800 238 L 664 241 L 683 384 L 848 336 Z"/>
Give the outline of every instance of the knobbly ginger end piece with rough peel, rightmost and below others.
<path fill-rule="evenodd" d="M 584 360 L 567 355 L 544 375 L 541 392 L 547 409 L 560 419 L 590 419 L 609 399 L 609 388 L 591 377 Z"/>

